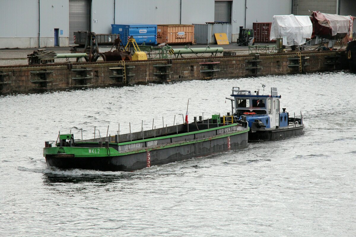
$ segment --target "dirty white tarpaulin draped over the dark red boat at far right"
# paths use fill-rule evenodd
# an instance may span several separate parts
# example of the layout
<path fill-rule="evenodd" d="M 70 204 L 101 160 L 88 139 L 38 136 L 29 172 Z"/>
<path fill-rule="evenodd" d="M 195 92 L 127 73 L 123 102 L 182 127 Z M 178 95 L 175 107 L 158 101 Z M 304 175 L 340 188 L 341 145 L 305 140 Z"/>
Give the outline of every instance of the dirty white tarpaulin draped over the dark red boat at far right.
<path fill-rule="evenodd" d="M 314 13 L 314 12 L 313 12 Z M 350 31 L 350 24 L 353 21 L 351 16 L 340 16 L 336 14 L 327 14 L 315 11 L 314 17 L 321 26 L 331 28 L 332 36 L 337 33 L 347 33 Z"/>

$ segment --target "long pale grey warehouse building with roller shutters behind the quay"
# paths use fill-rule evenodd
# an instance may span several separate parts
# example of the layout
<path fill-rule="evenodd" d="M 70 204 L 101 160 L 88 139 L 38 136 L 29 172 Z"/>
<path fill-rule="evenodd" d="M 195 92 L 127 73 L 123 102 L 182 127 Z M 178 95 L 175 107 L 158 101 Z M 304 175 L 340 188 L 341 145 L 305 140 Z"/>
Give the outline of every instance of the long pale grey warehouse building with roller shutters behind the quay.
<path fill-rule="evenodd" d="M 43 48 L 74 44 L 73 32 L 111 33 L 111 24 L 271 22 L 273 15 L 310 15 L 311 10 L 356 15 L 354 0 L 1 0 L 0 48 Z"/>

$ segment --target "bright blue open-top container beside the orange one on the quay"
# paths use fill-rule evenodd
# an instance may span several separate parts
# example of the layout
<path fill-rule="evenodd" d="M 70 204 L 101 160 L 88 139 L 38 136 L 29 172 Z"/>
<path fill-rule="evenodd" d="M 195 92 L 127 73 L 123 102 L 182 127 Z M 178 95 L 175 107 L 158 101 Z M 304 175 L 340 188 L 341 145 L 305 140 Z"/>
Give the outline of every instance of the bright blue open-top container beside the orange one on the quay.
<path fill-rule="evenodd" d="M 111 24 L 111 33 L 120 34 L 124 45 L 127 44 L 127 38 L 133 36 L 138 45 L 145 42 L 146 45 L 157 44 L 157 25 L 116 25 Z"/>

